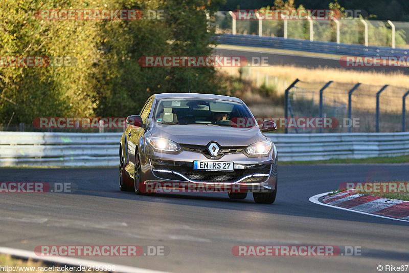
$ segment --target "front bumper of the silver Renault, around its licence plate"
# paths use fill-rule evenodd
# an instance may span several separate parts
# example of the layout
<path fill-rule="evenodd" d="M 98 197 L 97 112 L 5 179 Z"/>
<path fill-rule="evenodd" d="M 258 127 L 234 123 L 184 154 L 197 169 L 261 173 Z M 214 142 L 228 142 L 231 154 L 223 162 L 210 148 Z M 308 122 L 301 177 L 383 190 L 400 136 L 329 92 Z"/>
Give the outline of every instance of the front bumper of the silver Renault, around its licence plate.
<path fill-rule="evenodd" d="M 277 187 L 276 151 L 274 149 L 266 157 L 233 153 L 212 160 L 198 152 L 171 154 L 149 149 L 142 160 L 142 188 L 148 190 L 160 185 L 169 192 L 188 192 L 193 189 L 192 192 L 269 193 Z M 194 170 L 193 161 L 196 160 L 234 162 L 234 171 Z"/>

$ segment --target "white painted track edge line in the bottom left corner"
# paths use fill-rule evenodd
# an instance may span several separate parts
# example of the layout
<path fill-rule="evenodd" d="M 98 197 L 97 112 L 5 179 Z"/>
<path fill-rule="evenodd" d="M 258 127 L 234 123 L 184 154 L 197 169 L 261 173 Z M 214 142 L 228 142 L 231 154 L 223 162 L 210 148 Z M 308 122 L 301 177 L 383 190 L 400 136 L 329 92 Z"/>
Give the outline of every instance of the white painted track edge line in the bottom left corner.
<path fill-rule="evenodd" d="M 157 271 L 140 267 L 131 267 L 119 264 L 103 263 L 98 261 L 83 260 L 78 258 L 68 258 L 68 257 L 41 257 L 35 255 L 34 251 L 22 250 L 16 248 L 9 248 L 0 246 L 0 253 L 9 254 L 11 256 L 40 260 L 44 262 L 52 262 L 63 265 L 73 265 L 73 266 L 115 266 L 115 272 L 123 273 L 167 273 L 165 271 Z"/>

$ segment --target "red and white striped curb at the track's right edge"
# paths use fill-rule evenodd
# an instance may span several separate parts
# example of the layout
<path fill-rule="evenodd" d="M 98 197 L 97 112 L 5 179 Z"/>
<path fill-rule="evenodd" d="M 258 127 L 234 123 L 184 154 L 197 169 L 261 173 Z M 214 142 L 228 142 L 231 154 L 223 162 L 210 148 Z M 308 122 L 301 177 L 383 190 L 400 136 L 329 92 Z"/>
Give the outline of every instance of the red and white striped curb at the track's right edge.
<path fill-rule="evenodd" d="M 327 196 L 329 193 L 317 194 L 309 201 L 345 211 L 409 222 L 409 202 L 407 201 L 357 194 L 354 189 Z M 322 197 L 324 198 L 320 200 Z"/>

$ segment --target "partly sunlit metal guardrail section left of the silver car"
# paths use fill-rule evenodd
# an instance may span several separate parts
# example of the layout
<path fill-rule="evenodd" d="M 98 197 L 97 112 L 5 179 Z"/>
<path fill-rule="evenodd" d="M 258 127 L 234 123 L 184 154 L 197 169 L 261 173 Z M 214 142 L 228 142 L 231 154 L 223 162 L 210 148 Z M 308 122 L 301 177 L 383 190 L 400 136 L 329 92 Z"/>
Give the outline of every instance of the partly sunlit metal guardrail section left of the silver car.
<path fill-rule="evenodd" d="M 121 135 L 0 132 L 0 166 L 116 166 Z"/>

